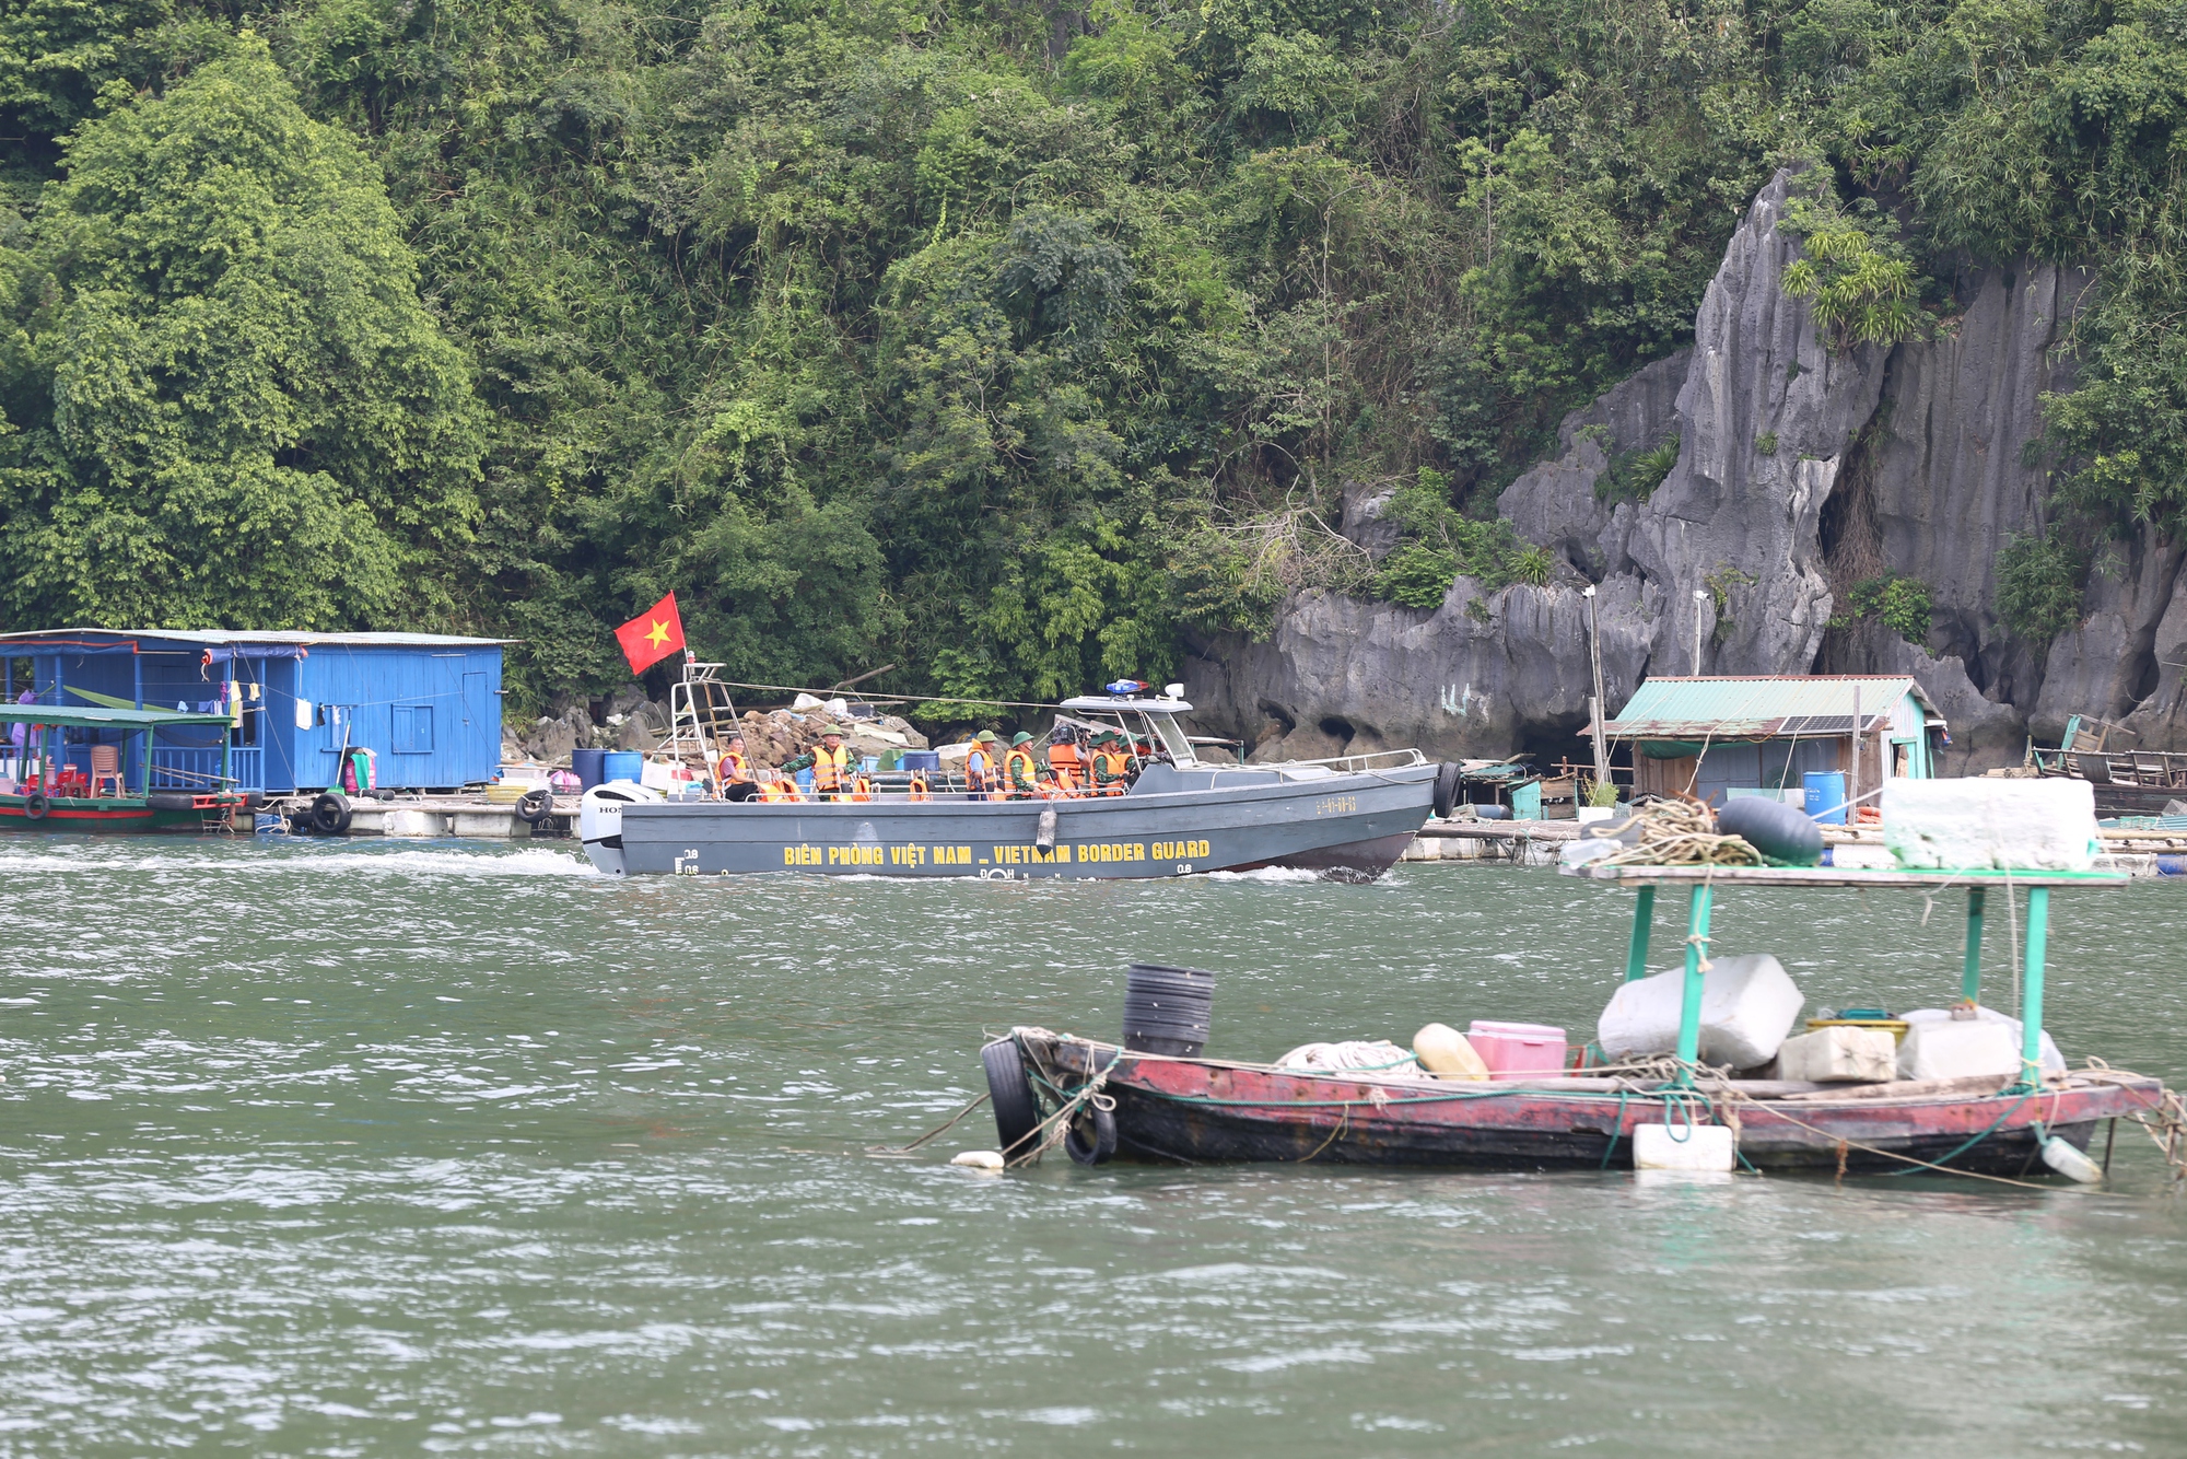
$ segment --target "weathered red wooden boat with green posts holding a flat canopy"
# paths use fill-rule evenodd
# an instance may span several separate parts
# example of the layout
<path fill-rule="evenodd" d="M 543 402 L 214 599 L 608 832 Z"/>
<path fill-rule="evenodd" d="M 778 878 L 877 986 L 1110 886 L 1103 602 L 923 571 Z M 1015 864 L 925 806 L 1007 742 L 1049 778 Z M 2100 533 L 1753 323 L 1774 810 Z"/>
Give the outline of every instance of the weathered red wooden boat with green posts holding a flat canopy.
<path fill-rule="evenodd" d="M 1135 1052 L 1015 1028 L 984 1050 L 997 1129 L 1013 1157 L 1063 1144 L 1074 1159 L 1314 1162 L 1367 1166 L 1627 1168 L 1636 1129 L 1730 1124 L 1756 1170 L 1907 1170 L 1931 1164 L 1988 1175 L 2040 1172 L 2043 1144 L 2086 1151 L 2106 1120 L 2154 1111 L 2154 1078 L 2091 1067 L 2043 1074 L 2043 976 L 2049 895 L 2124 882 L 2110 873 L 1907 873 L 1859 868 L 1579 868 L 1638 890 L 1627 980 L 1645 976 L 1660 886 L 1688 888 L 1680 1041 L 1669 1078 L 1618 1072 L 1443 1081 L 1424 1074 L 1308 1072 L 1229 1059 Z M 1728 888 L 1914 890 L 1968 897 L 1962 997 L 1981 989 L 1986 895 L 2025 892 L 2021 1074 L 1804 1083 L 1732 1078 L 1699 1063 L 1701 969 L 1710 903 Z"/>

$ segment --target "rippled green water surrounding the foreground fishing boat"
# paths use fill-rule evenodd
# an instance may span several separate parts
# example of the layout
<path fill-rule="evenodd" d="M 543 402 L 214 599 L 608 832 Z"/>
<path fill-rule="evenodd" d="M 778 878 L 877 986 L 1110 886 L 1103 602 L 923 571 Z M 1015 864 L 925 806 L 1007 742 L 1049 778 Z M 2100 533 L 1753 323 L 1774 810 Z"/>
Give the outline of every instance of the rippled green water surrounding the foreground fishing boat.
<path fill-rule="evenodd" d="M 0 1455 L 2187 1452 L 2187 1216 L 2124 1137 L 2117 1194 L 943 1166 L 984 1111 L 862 1153 L 978 1092 L 982 1030 L 1111 1035 L 1131 958 L 1218 969 L 1216 1054 L 1588 1028 L 1629 901 L 1548 873 L 0 877 Z M 2058 899 L 2069 1057 L 2187 1078 L 2183 895 Z M 1717 947 L 1903 1008 L 1957 984 L 1957 903 L 1918 919 L 1723 897 Z"/>

